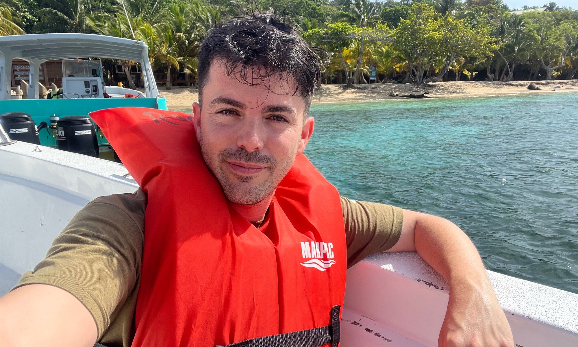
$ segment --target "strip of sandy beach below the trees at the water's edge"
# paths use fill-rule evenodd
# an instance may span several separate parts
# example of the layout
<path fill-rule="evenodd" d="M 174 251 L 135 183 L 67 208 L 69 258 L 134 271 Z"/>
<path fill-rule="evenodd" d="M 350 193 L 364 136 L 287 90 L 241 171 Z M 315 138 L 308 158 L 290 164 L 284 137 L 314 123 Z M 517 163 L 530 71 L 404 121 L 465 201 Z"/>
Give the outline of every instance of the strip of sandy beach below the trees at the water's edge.
<path fill-rule="evenodd" d="M 540 90 L 529 90 L 534 83 Z M 554 88 L 560 86 L 558 88 Z M 341 84 L 323 84 L 313 95 L 313 104 L 325 102 L 364 102 L 403 98 L 394 94 L 425 94 L 428 98 L 447 97 L 491 97 L 493 95 L 516 95 L 531 93 L 565 93 L 578 91 L 578 80 L 558 81 L 512 81 L 512 82 L 437 82 L 423 86 L 414 84 L 362 84 L 346 89 Z M 198 100 L 197 88 L 159 87 L 162 97 L 167 99 L 169 109 L 186 109 Z"/>

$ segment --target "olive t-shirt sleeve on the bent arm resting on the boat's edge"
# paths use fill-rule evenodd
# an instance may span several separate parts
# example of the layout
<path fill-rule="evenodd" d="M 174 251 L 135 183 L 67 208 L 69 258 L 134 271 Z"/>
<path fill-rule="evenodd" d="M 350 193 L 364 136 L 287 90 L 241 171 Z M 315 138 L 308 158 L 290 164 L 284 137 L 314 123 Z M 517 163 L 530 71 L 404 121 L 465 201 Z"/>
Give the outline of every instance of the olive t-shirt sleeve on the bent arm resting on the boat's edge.
<path fill-rule="evenodd" d="M 399 207 L 341 197 L 347 239 L 347 268 L 399 240 L 403 210 Z"/>

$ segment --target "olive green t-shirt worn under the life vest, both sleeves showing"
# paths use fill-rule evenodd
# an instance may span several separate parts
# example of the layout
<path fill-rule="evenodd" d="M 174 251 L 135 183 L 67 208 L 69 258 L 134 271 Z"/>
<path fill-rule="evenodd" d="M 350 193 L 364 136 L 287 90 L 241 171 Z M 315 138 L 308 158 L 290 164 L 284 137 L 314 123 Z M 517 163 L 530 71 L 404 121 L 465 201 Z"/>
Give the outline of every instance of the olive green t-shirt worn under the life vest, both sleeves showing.
<path fill-rule="evenodd" d="M 146 193 L 114 194 L 89 202 L 54 239 L 46 258 L 18 285 L 46 284 L 69 291 L 86 306 L 98 342 L 128 347 L 140 283 Z M 399 239 L 401 208 L 341 197 L 347 267 L 390 249 Z"/>

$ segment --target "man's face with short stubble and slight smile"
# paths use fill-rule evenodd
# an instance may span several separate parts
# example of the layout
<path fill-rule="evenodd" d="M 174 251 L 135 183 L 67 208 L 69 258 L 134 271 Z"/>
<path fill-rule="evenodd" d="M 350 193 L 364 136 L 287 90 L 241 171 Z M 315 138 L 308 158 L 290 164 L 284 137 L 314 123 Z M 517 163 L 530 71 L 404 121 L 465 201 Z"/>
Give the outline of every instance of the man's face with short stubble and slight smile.
<path fill-rule="evenodd" d="M 222 60 L 211 64 L 202 108 L 193 104 L 197 139 L 210 171 L 235 204 L 252 205 L 275 192 L 313 133 L 305 102 L 292 95 L 295 80 L 227 76 Z"/>

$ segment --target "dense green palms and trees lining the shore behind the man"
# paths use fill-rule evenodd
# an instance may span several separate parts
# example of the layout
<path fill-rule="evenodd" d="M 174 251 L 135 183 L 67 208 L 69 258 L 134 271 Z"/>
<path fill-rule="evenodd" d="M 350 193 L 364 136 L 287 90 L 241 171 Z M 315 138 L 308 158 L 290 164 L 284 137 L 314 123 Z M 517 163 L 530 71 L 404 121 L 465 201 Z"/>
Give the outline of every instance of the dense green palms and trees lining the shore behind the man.
<path fill-rule="evenodd" d="M 364 83 L 369 66 L 407 80 L 472 79 L 480 69 L 511 80 L 578 71 L 578 10 L 509 12 L 503 0 L 0 0 L 0 35 L 87 32 L 149 46 L 154 67 L 195 73 L 206 31 L 251 10 L 295 19 L 303 37 L 329 51 L 325 79 Z M 542 7 L 542 6 L 538 6 Z M 529 8 L 526 6 L 526 8 Z M 544 73 L 545 71 L 545 73 Z M 484 76 L 484 73 L 478 74 Z M 524 77 L 525 78 L 525 77 Z M 339 79 L 340 80 L 340 79 Z"/>

